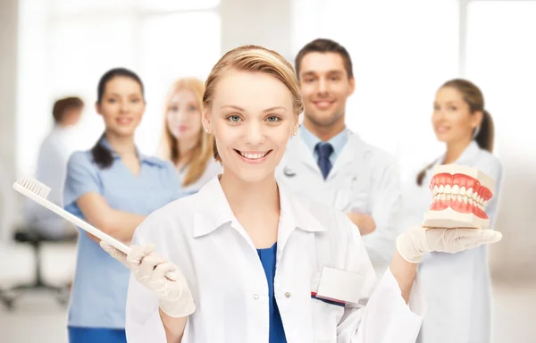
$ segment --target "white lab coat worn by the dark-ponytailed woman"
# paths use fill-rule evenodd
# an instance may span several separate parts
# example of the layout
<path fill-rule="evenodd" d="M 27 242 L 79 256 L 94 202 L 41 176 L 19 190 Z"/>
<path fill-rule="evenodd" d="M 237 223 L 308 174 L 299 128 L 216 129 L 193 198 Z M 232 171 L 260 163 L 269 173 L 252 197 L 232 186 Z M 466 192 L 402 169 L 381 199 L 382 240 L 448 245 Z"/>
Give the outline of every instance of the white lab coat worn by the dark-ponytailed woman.
<path fill-rule="evenodd" d="M 442 163 L 445 156 L 434 165 Z M 498 158 L 482 150 L 475 142 L 465 148 L 455 164 L 480 169 L 496 182 L 495 193 L 486 208 L 493 227 L 498 207 L 502 165 Z M 429 188 L 432 167 L 418 187 L 416 175 L 404 188 L 406 224 L 420 225 L 431 205 Z M 426 289 L 428 311 L 419 337 L 422 343 L 489 343 L 490 342 L 490 274 L 487 247 L 478 247 L 458 254 L 425 255 L 419 274 Z"/>

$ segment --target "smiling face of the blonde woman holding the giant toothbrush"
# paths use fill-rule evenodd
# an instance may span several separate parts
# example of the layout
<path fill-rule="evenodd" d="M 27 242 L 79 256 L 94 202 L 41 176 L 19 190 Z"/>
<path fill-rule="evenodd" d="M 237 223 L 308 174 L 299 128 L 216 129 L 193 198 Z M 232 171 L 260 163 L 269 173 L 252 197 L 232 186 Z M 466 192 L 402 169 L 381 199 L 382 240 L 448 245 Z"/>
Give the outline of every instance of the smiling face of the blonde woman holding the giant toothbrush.
<path fill-rule="evenodd" d="M 283 82 L 235 69 L 218 80 L 204 121 L 214 133 L 224 171 L 247 182 L 274 175 L 298 125 L 292 93 Z"/>

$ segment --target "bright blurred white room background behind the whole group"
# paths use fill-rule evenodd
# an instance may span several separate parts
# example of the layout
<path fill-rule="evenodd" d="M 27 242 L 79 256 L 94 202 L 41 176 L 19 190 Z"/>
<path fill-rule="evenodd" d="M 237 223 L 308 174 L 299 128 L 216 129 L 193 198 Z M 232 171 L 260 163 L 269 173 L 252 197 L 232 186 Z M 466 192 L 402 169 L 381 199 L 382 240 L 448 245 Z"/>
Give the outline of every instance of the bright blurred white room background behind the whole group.
<path fill-rule="evenodd" d="M 13 229 L 7 223 L 21 197 L 11 182 L 33 172 L 57 97 L 85 100 L 77 145 L 88 148 L 103 130 L 93 107 L 98 78 L 116 66 L 137 71 L 148 103 L 138 146 L 151 154 L 174 79 L 205 78 L 223 52 L 242 44 L 292 60 L 309 40 L 333 38 L 354 61 L 348 127 L 395 155 L 405 181 L 443 150 L 430 123 L 440 84 L 461 76 L 482 88 L 505 171 L 497 221 L 504 238 L 490 254 L 495 343 L 530 341 L 536 294 L 518 286 L 536 277 L 534 18 L 536 0 L 2 0 L 0 233 L 8 238 Z M 54 336 L 63 338 L 63 312 L 49 320 L 50 306 L 41 317 L 33 304 L 26 308 L 21 317 L 0 314 L 0 331 L 21 339 L 6 341 L 63 341 Z"/>

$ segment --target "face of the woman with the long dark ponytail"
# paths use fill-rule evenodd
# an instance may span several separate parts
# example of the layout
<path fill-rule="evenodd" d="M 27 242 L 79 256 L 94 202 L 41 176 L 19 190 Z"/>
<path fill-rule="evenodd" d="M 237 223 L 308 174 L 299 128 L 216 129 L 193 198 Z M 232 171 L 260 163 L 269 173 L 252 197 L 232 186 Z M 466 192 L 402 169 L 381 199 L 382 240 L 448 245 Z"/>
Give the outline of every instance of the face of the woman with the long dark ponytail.
<path fill-rule="evenodd" d="M 471 113 L 470 106 L 456 88 L 440 88 L 433 106 L 431 121 L 440 142 L 456 144 L 471 141 L 473 130 L 482 121 L 482 112 Z"/>

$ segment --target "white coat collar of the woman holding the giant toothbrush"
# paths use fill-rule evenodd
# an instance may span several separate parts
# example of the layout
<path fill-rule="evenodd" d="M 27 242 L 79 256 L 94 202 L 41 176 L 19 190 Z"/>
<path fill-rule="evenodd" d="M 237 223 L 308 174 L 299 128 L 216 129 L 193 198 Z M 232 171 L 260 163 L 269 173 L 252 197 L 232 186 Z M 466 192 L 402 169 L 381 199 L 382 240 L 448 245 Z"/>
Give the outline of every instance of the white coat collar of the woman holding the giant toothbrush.
<path fill-rule="evenodd" d="M 288 188 L 278 183 L 280 190 L 281 219 L 278 241 L 286 240 L 294 229 L 309 232 L 324 231 L 320 222 L 314 219 L 304 205 L 301 205 Z M 223 193 L 218 176 L 208 181 L 196 196 L 196 213 L 194 222 L 194 238 L 212 233 L 222 227 L 231 226 L 242 231 L 243 228 L 230 209 L 227 197 Z M 244 232 L 240 232 L 245 234 Z M 281 247 L 281 244 L 280 244 Z M 282 247 L 281 247 L 282 249 Z"/>

